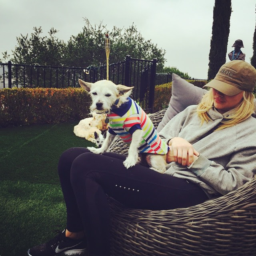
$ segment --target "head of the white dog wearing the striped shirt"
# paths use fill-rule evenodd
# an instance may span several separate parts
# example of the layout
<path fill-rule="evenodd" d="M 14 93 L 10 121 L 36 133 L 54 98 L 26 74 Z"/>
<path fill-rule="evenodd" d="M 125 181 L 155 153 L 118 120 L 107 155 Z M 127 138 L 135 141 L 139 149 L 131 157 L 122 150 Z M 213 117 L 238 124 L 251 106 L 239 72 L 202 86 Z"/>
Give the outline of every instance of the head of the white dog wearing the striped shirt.
<path fill-rule="evenodd" d="M 114 84 L 109 80 L 100 80 L 95 83 L 78 80 L 80 86 L 90 93 L 92 97 L 91 112 L 98 114 L 109 113 L 117 99 L 117 107 L 126 102 L 126 98 L 132 93 L 134 87 L 128 87 L 121 84 Z"/>

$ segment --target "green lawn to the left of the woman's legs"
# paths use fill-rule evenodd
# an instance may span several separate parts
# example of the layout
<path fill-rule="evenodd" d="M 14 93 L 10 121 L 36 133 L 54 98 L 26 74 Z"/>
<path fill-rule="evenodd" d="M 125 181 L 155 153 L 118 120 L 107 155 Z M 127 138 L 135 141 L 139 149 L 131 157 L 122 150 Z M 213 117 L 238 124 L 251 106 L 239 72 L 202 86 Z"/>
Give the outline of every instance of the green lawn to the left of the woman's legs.
<path fill-rule="evenodd" d="M 26 256 L 66 223 L 57 174 L 66 149 L 93 146 L 72 124 L 0 129 L 0 255 Z"/>

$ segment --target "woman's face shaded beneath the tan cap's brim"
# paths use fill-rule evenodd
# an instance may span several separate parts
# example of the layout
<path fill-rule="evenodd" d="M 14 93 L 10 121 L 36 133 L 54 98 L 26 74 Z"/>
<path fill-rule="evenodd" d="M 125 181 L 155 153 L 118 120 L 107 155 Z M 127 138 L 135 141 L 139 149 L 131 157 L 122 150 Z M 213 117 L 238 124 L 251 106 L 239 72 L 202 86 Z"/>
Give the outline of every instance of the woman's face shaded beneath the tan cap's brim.
<path fill-rule="evenodd" d="M 240 102 L 242 102 L 244 98 L 243 93 L 244 92 L 239 92 L 236 95 L 228 96 L 212 88 L 214 107 L 218 110 L 218 112 L 220 112 L 220 114 L 224 114 L 228 110 L 236 108 Z"/>

